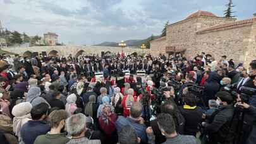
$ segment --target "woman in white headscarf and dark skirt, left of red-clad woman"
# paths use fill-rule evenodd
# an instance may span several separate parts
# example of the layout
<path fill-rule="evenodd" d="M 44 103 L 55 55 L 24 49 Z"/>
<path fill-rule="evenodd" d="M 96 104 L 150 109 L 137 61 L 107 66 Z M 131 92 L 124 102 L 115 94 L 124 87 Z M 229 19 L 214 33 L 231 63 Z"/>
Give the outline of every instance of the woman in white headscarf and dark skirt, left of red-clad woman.
<path fill-rule="evenodd" d="M 114 111 L 116 112 L 116 114 L 118 114 L 118 116 L 123 115 L 123 107 L 121 105 L 122 100 L 123 94 L 120 92 L 120 88 L 114 88 L 114 97 L 112 100 L 112 104 L 114 107 Z"/>

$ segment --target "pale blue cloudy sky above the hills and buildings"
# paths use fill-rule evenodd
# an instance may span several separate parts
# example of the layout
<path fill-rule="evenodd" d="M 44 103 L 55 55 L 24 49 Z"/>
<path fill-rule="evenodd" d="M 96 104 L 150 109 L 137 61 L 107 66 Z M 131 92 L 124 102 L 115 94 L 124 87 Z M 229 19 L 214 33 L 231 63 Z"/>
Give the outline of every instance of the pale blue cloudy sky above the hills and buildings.
<path fill-rule="evenodd" d="M 0 21 L 8 30 L 59 42 L 93 45 L 159 35 L 166 21 L 174 23 L 195 11 L 223 16 L 228 0 L 0 0 Z M 255 0 L 233 0 L 238 20 L 252 18 Z"/>

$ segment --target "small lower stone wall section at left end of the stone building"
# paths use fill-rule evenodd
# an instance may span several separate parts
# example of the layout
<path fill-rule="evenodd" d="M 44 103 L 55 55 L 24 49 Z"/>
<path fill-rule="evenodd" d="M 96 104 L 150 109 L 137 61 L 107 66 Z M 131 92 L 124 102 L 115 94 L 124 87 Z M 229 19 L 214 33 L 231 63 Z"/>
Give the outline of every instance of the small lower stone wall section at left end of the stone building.
<path fill-rule="evenodd" d="M 165 54 L 166 44 L 166 37 L 152 40 L 150 42 L 150 53 L 152 54 L 152 56 L 159 56 L 159 54 Z"/>

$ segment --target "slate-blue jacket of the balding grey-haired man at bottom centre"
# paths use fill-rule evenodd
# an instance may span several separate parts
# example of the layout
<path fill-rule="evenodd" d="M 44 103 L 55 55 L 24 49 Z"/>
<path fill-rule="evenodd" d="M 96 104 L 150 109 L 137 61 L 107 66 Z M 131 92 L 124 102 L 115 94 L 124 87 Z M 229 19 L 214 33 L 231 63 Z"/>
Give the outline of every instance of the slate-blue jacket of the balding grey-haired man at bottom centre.
<path fill-rule="evenodd" d="M 116 121 L 116 129 L 118 130 L 118 133 L 120 133 L 123 126 L 126 125 L 130 125 L 133 129 L 135 129 L 136 134 L 138 137 L 141 138 L 142 143 L 147 143 L 147 127 L 145 126 L 145 124 L 140 124 L 131 117 L 118 116 L 118 120 Z"/>

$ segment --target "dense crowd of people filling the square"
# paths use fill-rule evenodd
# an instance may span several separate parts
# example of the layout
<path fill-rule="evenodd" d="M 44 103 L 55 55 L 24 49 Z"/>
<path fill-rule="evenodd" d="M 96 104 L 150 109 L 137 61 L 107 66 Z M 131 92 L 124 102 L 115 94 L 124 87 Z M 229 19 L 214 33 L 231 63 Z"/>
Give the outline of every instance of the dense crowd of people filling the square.
<path fill-rule="evenodd" d="M 1 144 L 256 141 L 256 60 L 245 69 L 204 52 L 0 59 Z"/>

